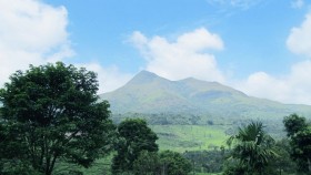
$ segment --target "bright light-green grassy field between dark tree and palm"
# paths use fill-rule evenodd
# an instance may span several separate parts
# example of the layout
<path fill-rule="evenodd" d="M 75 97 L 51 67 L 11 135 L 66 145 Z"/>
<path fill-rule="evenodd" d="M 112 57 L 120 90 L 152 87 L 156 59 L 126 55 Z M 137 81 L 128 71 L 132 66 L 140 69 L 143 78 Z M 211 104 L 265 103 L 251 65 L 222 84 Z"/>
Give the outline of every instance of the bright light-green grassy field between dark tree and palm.
<path fill-rule="evenodd" d="M 225 144 L 225 127 L 218 125 L 149 125 L 159 136 L 160 150 L 212 150 Z"/>

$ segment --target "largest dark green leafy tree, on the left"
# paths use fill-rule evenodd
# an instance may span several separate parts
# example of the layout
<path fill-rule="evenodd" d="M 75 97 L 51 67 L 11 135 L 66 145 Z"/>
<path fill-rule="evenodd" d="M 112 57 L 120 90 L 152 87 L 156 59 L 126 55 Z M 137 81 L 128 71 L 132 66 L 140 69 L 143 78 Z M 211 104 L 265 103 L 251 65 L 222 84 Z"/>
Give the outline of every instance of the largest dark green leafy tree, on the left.
<path fill-rule="evenodd" d="M 50 175 L 58 161 L 89 167 L 112 148 L 109 103 L 94 72 L 61 62 L 17 71 L 0 90 L 1 161 Z"/>

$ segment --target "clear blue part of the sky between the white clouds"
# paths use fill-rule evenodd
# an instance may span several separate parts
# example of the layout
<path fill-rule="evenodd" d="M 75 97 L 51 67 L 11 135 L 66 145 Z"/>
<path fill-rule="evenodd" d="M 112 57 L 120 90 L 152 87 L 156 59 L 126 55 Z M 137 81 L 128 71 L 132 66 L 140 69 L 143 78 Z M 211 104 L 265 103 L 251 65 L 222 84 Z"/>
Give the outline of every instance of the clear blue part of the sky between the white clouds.
<path fill-rule="evenodd" d="M 288 52 L 285 40 L 308 9 L 295 9 L 291 1 L 277 0 L 254 4 L 241 1 L 241 6 L 208 0 L 47 2 L 67 8 L 70 40 L 78 53 L 76 59 L 82 62 L 94 60 L 136 73 L 146 62 L 127 42 L 133 31 L 174 40 L 203 27 L 224 42 L 225 49 L 217 53 L 219 65 L 223 70 L 239 70 L 234 72 L 239 78 L 254 71 L 284 72 L 273 65 L 289 68 L 293 62 L 294 55 Z"/>

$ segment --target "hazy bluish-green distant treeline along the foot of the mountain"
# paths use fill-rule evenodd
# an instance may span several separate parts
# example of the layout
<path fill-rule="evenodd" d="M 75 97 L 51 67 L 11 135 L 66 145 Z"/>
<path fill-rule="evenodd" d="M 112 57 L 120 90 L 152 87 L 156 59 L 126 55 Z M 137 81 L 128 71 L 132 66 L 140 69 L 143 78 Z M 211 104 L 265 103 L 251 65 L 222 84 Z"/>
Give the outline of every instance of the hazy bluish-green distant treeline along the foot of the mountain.
<path fill-rule="evenodd" d="M 222 115 L 215 114 L 189 114 L 189 113 L 122 113 L 112 114 L 111 119 L 114 124 L 119 124 L 126 119 L 143 119 L 150 125 L 217 125 L 224 126 L 224 133 L 227 135 L 232 135 L 238 126 L 243 126 L 249 124 L 251 119 L 243 117 L 224 117 Z M 230 119 L 230 120 L 228 120 Z M 265 119 L 260 120 L 264 123 L 265 131 L 269 132 L 275 138 L 282 138 L 285 136 L 283 131 L 282 119 Z"/>

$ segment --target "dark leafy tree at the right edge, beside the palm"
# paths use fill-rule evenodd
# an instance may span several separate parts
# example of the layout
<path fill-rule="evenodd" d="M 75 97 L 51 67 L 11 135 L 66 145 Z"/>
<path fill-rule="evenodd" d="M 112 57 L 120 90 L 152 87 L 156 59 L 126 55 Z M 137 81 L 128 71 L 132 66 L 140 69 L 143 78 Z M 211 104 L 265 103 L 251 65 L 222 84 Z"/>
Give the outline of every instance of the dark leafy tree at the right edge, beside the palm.
<path fill-rule="evenodd" d="M 311 124 L 297 114 L 283 120 L 291 144 L 291 157 L 300 173 L 311 173 Z"/>

